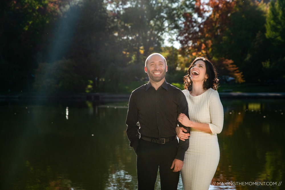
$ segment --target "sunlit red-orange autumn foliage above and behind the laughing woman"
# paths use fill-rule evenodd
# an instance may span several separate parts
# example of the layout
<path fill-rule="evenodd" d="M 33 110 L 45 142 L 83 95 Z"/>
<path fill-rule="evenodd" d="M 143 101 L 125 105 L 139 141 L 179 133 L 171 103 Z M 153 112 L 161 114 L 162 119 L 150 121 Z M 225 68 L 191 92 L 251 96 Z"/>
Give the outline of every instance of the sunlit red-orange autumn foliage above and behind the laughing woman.
<path fill-rule="evenodd" d="M 213 44 L 222 40 L 230 25 L 229 16 L 235 11 L 234 1 L 210 0 L 195 3 L 195 14 L 185 13 L 184 28 L 180 31 L 180 43 L 184 54 L 191 57 L 205 56 L 217 66 L 220 75 L 229 75 L 236 82 L 244 82 L 242 72 L 233 60 L 217 58 L 212 54 Z"/>

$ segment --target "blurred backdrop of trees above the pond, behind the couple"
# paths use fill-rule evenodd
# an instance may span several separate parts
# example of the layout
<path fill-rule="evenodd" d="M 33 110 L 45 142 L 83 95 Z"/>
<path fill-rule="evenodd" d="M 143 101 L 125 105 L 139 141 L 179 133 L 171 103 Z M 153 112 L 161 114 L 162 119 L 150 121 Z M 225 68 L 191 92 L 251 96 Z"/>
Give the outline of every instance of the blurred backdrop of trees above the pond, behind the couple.
<path fill-rule="evenodd" d="M 180 88 L 205 56 L 220 90 L 285 91 L 284 9 L 284 0 L 1 1 L 0 92 L 130 93 L 148 81 L 153 52 Z"/>

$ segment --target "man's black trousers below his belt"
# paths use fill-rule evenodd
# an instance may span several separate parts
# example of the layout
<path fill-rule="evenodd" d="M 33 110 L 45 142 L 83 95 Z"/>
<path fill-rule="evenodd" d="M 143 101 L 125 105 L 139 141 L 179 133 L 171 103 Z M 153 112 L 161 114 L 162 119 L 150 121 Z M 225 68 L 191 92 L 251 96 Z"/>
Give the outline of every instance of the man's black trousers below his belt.
<path fill-rule="evenodd" d="M 170 169 L 177 154 L 178 140 L 156 144 L 140 139 L 137 147 L 139 190 L 153 190 L 159 168 L 161 190 L 177 190 L 180 171 Z"/>

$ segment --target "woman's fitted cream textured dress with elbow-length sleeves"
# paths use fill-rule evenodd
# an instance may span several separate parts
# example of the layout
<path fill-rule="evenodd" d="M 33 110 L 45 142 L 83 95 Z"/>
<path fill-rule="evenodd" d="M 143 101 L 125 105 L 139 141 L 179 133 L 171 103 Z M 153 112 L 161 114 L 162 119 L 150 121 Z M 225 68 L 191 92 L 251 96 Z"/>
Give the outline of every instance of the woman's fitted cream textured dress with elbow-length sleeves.
<path fill-rule="evenodd" d="M 208 89 L 199 96 L 183 90 L 189 110 L 189 119 L 208 123 L 212 133 L 191 128 L 189 148 L 185 152 L 181 177 L 184 190 L 208 190 L 216 172 L 220 151 L 217 133 L 223 128 L 223 106 L 216 90 Z"/>

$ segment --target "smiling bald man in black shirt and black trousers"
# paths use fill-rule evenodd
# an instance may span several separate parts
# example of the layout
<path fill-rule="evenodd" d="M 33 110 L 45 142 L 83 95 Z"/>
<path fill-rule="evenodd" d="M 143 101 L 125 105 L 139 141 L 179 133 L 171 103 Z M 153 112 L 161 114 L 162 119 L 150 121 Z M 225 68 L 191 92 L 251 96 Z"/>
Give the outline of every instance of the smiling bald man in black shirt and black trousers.
<path fill-rule="evenodd" d="M 161 189 L 177 189 L 189 139 L 178 143 L 175 127 L 180 113 L 188 116 L 187 101 L 180 89 L 166 83 L 167 64 L 161 54 L 148 56 L 144 71 L 149 82 L 132 92 L 126 120 L 130 146 L 137 154 L 138 189 L 154 189 L 158 168 Z"/>

